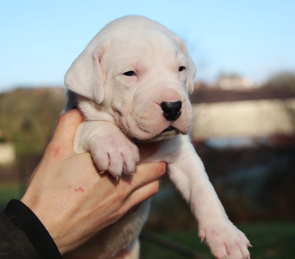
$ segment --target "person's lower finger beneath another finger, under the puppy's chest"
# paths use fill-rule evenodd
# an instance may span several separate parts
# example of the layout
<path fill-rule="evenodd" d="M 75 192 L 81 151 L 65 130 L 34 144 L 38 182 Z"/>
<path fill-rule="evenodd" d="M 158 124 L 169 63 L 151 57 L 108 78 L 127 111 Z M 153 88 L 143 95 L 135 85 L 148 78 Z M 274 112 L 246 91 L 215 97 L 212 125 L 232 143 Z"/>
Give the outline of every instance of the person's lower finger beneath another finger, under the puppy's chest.
<path fill-rule="evenodd" d="M 135 191 L 133 191 L 126 199 L 125 210 L 128 211 L 130 208 L 137 206 L 143 201 L 149 199 L 155 195 L 159 190 L 159 180 L 150 182 Z"/>

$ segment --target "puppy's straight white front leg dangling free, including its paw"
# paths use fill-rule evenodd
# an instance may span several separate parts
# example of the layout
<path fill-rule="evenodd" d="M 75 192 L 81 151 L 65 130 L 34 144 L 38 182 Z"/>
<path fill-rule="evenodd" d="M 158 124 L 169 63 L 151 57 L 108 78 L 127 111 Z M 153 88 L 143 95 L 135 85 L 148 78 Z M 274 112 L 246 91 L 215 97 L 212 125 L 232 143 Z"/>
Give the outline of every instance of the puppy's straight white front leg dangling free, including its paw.
<path fill-rule="evenodd" d="M 176 161 L 168 164 L 168 174 L 199 222 L 199 237 L 215 258 L 248 259 L 247 237 L 230 222 L 188 137 L 177 150 Z"/>

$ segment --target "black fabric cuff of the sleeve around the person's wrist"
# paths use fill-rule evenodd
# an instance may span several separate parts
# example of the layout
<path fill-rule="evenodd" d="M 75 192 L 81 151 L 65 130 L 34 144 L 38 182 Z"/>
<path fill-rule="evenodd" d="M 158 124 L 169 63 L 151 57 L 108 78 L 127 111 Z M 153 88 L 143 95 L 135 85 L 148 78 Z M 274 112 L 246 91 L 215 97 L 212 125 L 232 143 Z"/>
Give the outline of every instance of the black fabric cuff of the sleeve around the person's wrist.
<path fill-rule="evenodd" d="M 19 200 L 12 199 L 11 201 L 9 201 L 9 203 L 7 204 L 3 212 L 13 222 L 14 229 L 16 228 L 16 230 L 22 231 L 27 235 L 27 239 L 30 241 L 31 245 L 35 248 L 35 251 L 37 251 L 37 254 L 38 254 L 37 258 L 40 258 L 40 259 L 55 259 L 55 258 L 60 259 L 61 258 L 60 252 L 57 246 L 55 245 L 55 242 L 53 241 L 52 237 L 49 235 L 48 231 L 46 230 L 42 222 L 24 203 L 22 203 Z M 15 241 L 22 244 L 24 241 L 21 236 L 19 237 L 20 238 L 18 238 Z M 26 258 L 26 257 L 20 257 L 20 258 Z M 31 256 L 28 258 L 35 258 L 35 257 Z"/>

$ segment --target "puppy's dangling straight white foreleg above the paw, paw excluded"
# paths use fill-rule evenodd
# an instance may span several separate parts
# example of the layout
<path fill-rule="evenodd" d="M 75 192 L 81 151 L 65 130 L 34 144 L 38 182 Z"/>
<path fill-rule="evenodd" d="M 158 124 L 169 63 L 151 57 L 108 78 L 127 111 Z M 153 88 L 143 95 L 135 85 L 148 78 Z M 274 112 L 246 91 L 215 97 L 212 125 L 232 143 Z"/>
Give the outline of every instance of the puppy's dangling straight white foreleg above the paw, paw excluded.
<path fill-rule="evenodd" d="M 204 165 L 191 144 L 177 161 L 168 165 L 168 174 L 200 224 L 227 219 Z"/>

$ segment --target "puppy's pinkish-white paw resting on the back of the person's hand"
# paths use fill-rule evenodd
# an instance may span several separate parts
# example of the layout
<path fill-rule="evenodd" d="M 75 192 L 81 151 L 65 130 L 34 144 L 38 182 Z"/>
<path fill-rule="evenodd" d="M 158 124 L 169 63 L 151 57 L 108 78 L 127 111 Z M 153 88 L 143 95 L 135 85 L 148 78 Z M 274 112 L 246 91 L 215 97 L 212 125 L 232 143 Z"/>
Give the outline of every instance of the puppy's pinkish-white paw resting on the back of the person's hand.
<path fill-rule="evenodd" d="M 138 147 L 125 135 L 97 136 L 90 146 L 97 168 L 108 171 L 118 180 L 122 173 L 133 175 L 139 163 Z"/>

